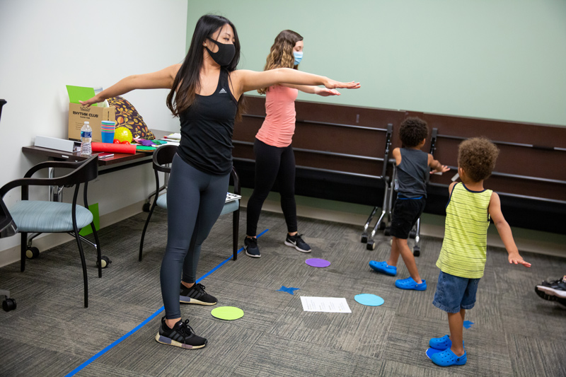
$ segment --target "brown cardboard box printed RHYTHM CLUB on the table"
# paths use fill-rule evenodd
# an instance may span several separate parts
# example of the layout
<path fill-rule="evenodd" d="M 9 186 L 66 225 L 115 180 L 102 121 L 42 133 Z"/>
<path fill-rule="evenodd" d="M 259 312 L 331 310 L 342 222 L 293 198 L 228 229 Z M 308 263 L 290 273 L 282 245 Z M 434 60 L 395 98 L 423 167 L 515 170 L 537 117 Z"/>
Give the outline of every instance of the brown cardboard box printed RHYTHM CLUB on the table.
<path fill-rule="evenodd" d="M 93 129 L 93 141 L 102 141 L 100 124 L 103 120 L 116 120 L 116 108 L 100 108 L 98 106 L 83 106 L 80 103 L 69 103 L 69 139 L 81 140 L 81 128 L 84 122 L 89 122 Z"/>

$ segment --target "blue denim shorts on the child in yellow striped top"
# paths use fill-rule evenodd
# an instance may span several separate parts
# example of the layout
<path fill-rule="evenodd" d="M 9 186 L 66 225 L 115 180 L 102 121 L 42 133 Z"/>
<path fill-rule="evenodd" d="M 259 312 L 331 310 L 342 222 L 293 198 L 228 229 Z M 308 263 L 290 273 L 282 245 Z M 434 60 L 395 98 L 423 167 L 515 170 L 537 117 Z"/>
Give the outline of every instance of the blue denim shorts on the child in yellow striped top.
<path fill-rule="evenodd" d="M 457 277 L 441 271 L 432 303 L 448 313 L 471 309 L 475 305 L 475 292 L 478 291 L 479 282 L 480 279 Z"/>

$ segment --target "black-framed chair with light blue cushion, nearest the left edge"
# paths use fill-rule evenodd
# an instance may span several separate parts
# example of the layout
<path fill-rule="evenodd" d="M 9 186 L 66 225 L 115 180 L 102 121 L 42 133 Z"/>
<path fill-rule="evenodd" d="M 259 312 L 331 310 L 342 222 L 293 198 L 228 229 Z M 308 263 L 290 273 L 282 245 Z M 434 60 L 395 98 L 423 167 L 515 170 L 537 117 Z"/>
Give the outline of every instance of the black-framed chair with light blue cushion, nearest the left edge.
<path fill-rule="evenodd" d="M 34 173 L 45 168 L 71 169 L 70 173 L 56 178 L 32 178 Z M 94 238 L 96 240 L 96 257 L 98 265 L 98 277 L 102 277 L 102 263 L 100 262 L 100 243 L 98 242 L 98 234 L 93 222 L 93 214 L 88 210 L 87 189 L 88 182 L 98 177 L 98 156 L 91 156 L 84 161 L 77 162 L 59 162 L 46 161 L 38 163 L 25 173 L 23 179 L 13 180 L 6 183 L 0 188 L 0 197 L 13 188 L 21 187 L 21 201 L 13 204 L 8 211 L 11 215 L 13 224 L 17 228 L 17 232 L 21 233 L 21 271 L 25 270 L 26 251 L 30 247 L 28 233 L 34 233 L 32 238 L 40 233 L 69 233 L 76 238 L 79 246 L 79 255 L 83 267 L 84 281 L 84 306 L 88 308 L 88 281 L 86 277 L 86 262 L 83 253 L 83 246 L 79 231 L 85 226 L 91 225 Z M 83 187 L 84 207 L 77 204 L 79 197 L 79 187 L 81 183 Z M 47 202 L 42 200 L 29 200 L 30 186 L 58 186 L 58 187 L 74 187 L 74 195 L 72 203 Z M 4 206 L 4 199 L 2 199 Z"/>

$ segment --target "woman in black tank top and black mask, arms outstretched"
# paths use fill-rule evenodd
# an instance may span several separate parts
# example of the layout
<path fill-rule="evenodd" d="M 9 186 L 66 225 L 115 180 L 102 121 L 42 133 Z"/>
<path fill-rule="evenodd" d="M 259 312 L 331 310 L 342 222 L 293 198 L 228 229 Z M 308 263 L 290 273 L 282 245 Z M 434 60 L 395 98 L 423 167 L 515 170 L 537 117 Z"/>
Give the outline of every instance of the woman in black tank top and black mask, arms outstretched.
<path fill-rule="evenodd" d="M 221 16 L 197 22 L 183 64 L 151 74 L 128 76 L 82 105 L 103 102 L 134 89 L 168 88 L 167 106 L 180 117 L 181 141 L 168 185 L 168 236 L 161 263 L 161 294 L 165 317 L 156 341 L 185 349 L 202 348 L 188 320 L 181 320 L 180 301 L 214 305 L 216 298 L 196 284 L 200 246 L 220 215 L 229 173 L 234 121 L 243 112 L 243 93 L 289 83 L 326 88 L 359 88 L 294 69 L 255 72 L 236 70 L 240 42 L 236 27 Z M 180 286 L 179 286 L 180 284 Z"/>

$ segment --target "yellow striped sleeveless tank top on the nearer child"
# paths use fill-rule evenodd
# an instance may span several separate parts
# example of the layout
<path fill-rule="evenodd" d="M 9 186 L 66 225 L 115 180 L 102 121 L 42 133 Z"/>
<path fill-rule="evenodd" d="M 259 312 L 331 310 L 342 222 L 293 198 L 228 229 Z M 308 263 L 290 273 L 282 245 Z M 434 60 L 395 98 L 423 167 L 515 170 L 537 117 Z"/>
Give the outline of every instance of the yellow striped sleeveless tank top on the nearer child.
<path fill-rule="evenodd" d="M 471 191 L 457 183 L 446 205 L 444 241 L 437 267 L 468 279 L 483 277 L 492 190 Z"/>

